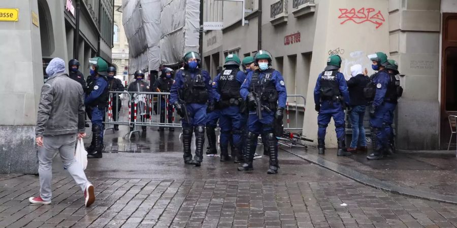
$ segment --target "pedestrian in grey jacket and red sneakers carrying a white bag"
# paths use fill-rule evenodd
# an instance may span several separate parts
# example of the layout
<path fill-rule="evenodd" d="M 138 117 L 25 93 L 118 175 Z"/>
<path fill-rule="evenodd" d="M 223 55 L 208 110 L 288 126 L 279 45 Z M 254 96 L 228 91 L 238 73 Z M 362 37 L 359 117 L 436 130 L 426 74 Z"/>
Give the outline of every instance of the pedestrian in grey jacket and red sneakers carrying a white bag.
<path fill-rule="evenodd" d="M 28 200 L 34 204 L 51 203 L 52 158 L 58 151 L 63 167 L 84 192 L 88 207 L 95 201 L 94 188 L 75 160 L 76 140 L 86 135 L 84 92 L 78 82 L 69 78 L 65 69 L 65 63 L 59 58 L 52 59 L 46 67 L 50 77 L 41 88 L 35 130 L 39 146 L 40 196 Z"/>

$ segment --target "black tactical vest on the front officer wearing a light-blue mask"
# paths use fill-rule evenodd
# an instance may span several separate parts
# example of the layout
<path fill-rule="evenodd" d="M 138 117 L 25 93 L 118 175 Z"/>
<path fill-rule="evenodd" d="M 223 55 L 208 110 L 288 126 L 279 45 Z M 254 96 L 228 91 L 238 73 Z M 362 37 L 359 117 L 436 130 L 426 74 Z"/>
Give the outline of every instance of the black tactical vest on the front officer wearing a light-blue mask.
<path fill-rule="evenodd" d="M 264 78 L 260 80 L 259 70 L 255 70 L 251 78 L 250 92 L 255 92 L 260 96 L 262 104 L 267 105 L 271 110 L 276 109 L 278 105 L 278 91 L 275 84 L 271 81 L 275 69 L 269 68 L 263 71 Z"/>

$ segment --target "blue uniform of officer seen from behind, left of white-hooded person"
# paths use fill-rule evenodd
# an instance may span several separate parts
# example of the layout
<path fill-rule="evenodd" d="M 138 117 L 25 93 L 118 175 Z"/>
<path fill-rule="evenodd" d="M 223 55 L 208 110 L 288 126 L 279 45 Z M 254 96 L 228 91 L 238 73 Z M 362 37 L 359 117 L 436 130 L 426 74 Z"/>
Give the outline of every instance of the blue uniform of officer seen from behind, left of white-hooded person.
<path fill-rule="evenodd" d="M 344 79 L 344 75 L 336 70 L 324 71 L 323 74 L 326 75 L 322 76 L 322 73 L 319 74 L 316 86 L 314 87 L 314 103 L 316 105 L 320 105 L 319 114 L 317 115 L 317 137 L 320 140 L 325 139 L 327 126 L 330 123 L 330 119 L 333 117 L 337 138 L 342 140 L 344 138 L 344 109 L 341 102 L 349 104 L 349 92 L 346 80 Z M 333 84 L 335 87 L 323 88 L 321 85 L 323 82 Z M 321 89 L 339 90 L 339 94 L 333 94 L 330 95 L 331 97 L 325 97 L 322 95 Z M 334 99 L 335 96 L 338 96 L 338 98 Z"/>

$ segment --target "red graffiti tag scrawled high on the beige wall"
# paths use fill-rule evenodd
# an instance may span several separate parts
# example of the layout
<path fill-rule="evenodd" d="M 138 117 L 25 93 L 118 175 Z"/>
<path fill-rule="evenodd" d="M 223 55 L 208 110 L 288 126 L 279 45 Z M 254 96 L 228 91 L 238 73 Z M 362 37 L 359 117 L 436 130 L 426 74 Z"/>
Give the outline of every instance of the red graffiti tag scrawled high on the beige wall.
<path fill-rule="evenodd" d="M 338 18 L 345 19 L 343 22 L 340 24 L 346 23 L 346 21 L 353 21 L 357 24 L 362 24 L 365 22 L 371 22 L 373 24 L 376 24 L 376 29 L 379 28 L 384 22 L 384 16 L 382 16 L 381 11 L 379 10 L 376 14 L 371 15 L 373 12 L 376 12 L 375 9 L 373 8 L 361 8 L 357 12 L 355 12 L 355 9 L 340 9 L 341 15 L 338 16 Z"/>

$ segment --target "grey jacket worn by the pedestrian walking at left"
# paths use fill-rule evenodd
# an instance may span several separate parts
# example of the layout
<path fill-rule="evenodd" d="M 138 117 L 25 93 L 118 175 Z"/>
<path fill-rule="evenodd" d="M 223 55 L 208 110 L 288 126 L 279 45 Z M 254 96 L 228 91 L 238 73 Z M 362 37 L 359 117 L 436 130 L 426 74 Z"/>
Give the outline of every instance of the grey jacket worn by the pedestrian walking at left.
<path fill-rule="evenodd" d="M 83 133 L 85 107 L 81 84 L 65 72 L 52 75 L 41 88 L 35 134 L 63 135 Z"/>

